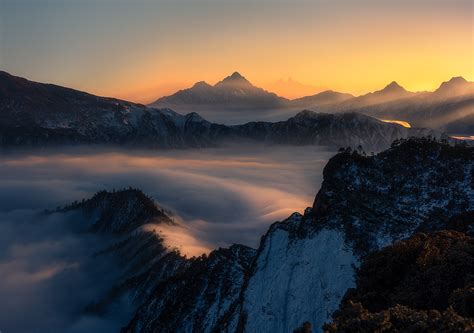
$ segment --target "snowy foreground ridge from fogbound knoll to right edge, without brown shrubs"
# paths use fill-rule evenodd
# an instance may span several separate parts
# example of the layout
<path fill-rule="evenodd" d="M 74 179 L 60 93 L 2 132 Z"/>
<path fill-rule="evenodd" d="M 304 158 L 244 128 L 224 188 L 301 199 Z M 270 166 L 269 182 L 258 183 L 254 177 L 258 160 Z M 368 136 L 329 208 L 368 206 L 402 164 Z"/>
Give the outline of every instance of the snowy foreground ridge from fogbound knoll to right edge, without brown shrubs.
<path fill-rule="evenodd" d="M 410 139 L 374 156 L 345 149 L 327 164 L 313 207 L 274 223 L 258 249 L 197 258 L 144 228 L 175 222 L 139 190 L 99 192 L 46 214 L 78 218 L 108 239 L 95 255 L 121 273 L 84 311 L 129 304 L 123 332 L 291 332 L 305 322 L 319 331 L 367 255 L 418 232 L 474 235 L 473 179 L 472 147 Z"/>

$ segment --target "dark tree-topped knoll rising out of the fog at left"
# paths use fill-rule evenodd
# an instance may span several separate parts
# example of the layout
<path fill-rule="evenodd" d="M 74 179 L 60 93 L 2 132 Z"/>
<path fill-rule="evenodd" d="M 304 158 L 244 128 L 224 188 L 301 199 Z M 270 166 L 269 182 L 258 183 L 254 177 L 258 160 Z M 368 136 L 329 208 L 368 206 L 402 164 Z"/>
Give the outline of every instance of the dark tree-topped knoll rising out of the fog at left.
<path fill-rule="evenodd" d="M 175 222 L 138 189 L 100 191 L 90 199 L 45 213 L 82 221 L 86 232 L 103 236 L 103 249 L 95 255 L 118 263 L 119 279 L 109 292 L 91 300 L 85 309 L 91 314 L 100 315 L 123 299 L 131 307 L 140 305 L 160 281 L 188 265 L 186 258 L 167 248 L 158 233 L 143 228 Z"/>

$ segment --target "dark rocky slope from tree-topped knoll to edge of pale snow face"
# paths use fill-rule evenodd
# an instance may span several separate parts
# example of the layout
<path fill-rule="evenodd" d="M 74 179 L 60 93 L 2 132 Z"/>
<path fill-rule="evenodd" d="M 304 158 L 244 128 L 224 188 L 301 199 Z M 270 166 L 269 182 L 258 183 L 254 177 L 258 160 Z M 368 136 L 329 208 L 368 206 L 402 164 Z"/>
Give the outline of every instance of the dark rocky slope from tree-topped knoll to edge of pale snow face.
<path fill-rule="evenodd" d="M 106 293 L 91 299 L 84 313 L 100 317 L 125 303 L 139 309 L 130 325 L 143 332 L 209 331 L 218 325 L 235 309 L 256 252 L 233 245 L 208 256 L 182 256 L 167 247 L 159 232 L 143 228 L 175 222 L 132 188 L 100 191 L 45 214 L 82 221 L 86 232 L 104 236 L 104 248 L 95 256 L 117 262 L 118 279 Z"/>

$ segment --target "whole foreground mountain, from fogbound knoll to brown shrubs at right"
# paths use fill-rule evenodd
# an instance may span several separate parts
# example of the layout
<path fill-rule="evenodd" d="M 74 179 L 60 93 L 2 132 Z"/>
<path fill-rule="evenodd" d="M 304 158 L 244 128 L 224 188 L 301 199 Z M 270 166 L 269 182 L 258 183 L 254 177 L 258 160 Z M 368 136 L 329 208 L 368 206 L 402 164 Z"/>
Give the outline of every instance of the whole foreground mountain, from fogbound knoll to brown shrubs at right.
<path fill-rule="evenodd" d="M 175 222 L 136 189 L 46 214 L 79 214 L 89 232 L 117 237 L 97 255 L 119 258 L 122 278 L 85 311 L 101 316 L 125 297 L 135 310 L 122 332 L 469 329 L 473 161 L 472 147 L 424 138 L 374 156 L 345 149 L 325 167 L 313 206 L 274 223 L 258 249 L 193 258 L 142 229 Z M 436 233 L 446 229 L 457 232 Z"/>

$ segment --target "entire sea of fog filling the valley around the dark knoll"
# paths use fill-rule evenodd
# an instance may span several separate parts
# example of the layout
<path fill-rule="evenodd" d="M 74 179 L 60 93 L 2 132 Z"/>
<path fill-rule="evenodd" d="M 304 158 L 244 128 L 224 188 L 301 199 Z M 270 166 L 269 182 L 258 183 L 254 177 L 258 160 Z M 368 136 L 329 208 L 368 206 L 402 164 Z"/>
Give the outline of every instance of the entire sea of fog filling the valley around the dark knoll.
<path fill-rule="evenodd" d="M 83 315 L 113 283 L 113 264 L 91 259 L 101 246 L 96 236 L 65 227 L 64 216 L 39 217 L 40 210 L 132 186 L 185 226 L 164 235 L 184 253 L 231 243 L 257 247 L 269 224 L 312 204 L 333 154 L 255 146 L 0 155 L 0 330 L 109 332 L 127 322 L 122 307 L 106 318 Z"/>

